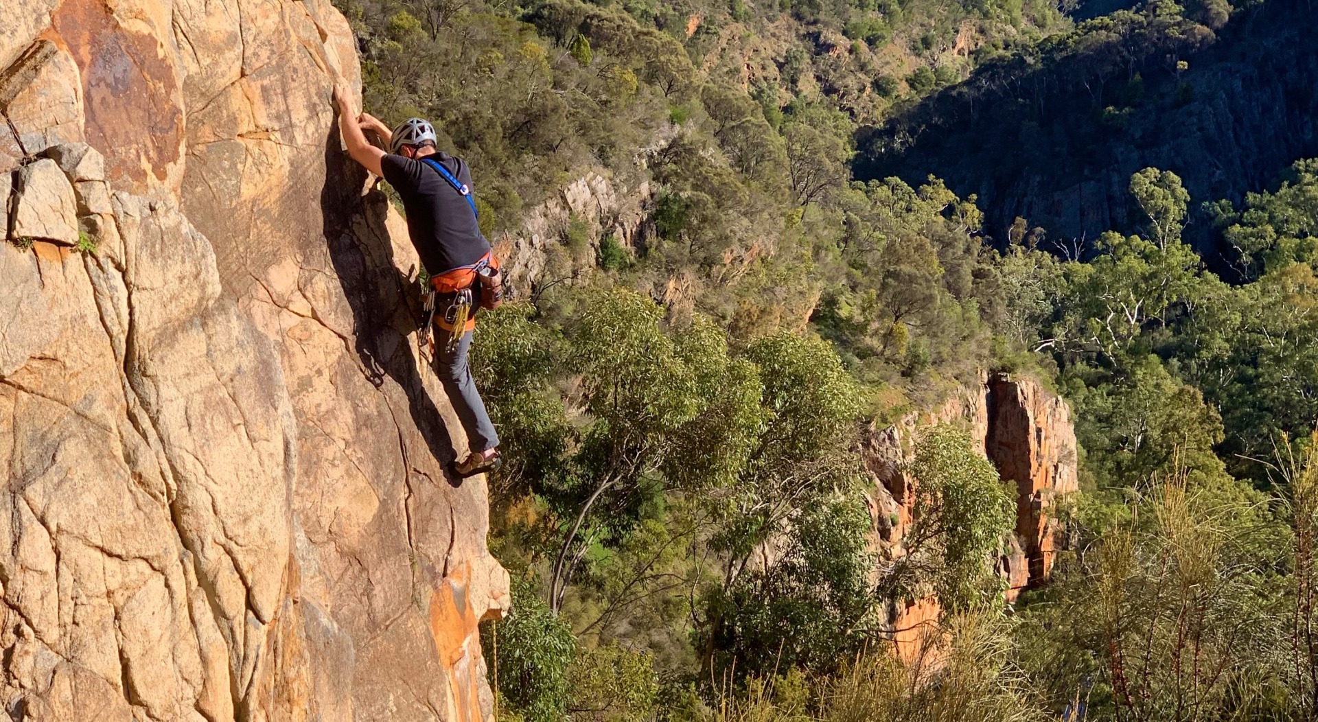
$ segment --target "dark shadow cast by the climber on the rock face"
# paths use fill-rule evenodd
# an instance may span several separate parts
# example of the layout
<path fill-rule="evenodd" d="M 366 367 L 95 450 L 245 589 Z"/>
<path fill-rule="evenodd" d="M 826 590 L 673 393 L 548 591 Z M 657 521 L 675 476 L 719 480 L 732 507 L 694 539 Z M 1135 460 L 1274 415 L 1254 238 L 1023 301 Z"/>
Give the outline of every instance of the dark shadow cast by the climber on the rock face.
<path fill-rule="evenodd" d="M 353 344 L 366 378 L 378 389 L 393 379 L 407 395 L 416 430 L 431 455 L 444 469 L 449 486 L 461 485 L 451 474 L 453 443 L 434 399 L 426 393 L 413 333 L 423 321 L 420 285 L 405 277 L 394 264 L 393 245 L 385 227 L 389 199 L 380 191 L 360 194 L 365 170 L 339 146 L 339 128 L 326 138 L 326 183 L 320 190 L 320 213 L 339 283 L 353 316 Z"/>

